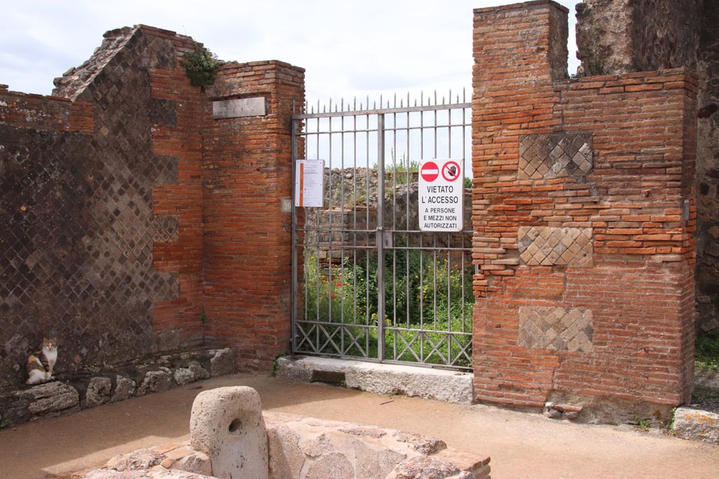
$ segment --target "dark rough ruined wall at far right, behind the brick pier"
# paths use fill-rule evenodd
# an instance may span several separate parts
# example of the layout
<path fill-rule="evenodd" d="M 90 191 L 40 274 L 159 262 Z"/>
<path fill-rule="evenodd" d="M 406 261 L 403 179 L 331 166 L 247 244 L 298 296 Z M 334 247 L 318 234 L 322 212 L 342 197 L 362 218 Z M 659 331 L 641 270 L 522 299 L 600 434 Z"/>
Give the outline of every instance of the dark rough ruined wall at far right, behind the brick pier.
<path fill-rule="evenodd" d="M 715 0 L 585 0 L 577 5 L 577 56 L 586 75 L 686 67 L 700 80 L 697 332 L 719 327 L 718 31 Z"/>

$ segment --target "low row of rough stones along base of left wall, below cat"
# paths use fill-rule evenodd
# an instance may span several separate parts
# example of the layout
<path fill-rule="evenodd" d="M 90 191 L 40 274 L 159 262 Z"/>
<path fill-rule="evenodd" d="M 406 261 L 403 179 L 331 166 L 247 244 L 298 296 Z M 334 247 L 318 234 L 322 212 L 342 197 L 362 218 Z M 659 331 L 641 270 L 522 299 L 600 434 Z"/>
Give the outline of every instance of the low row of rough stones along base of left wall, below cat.
<path fill-rule="evenodd" d="M 234 371 L 234 350 L 224 348 L 163 354 L 111 371 L 58 375 L 47 383 L 0 392 L 0 424 L 57 417 Z"/>

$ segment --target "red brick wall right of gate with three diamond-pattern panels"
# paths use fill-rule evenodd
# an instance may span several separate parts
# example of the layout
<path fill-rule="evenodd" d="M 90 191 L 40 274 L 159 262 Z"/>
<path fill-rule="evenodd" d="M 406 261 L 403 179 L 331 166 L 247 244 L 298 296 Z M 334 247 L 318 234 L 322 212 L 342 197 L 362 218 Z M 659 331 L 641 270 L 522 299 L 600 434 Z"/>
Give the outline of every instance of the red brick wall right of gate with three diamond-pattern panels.
<path fill-rule="evenodd" d="M 566 16 L 475 10 L 475 394 L 664 414 L 691 392 L 697 82 L 566 80 Z"/>

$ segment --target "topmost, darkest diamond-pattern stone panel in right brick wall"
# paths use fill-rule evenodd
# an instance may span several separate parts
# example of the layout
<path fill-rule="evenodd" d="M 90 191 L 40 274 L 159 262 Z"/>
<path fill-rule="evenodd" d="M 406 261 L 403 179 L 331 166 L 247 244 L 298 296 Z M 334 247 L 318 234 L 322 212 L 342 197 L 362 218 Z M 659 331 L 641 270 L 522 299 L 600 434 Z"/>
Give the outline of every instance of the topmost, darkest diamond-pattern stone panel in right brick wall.
<path fill-rule="evenodd" d="M 549 180 L 581 177 L 593 165 L 592 135 L 551 133 L 519 137 L 518 177 L 521 180 Z"/>

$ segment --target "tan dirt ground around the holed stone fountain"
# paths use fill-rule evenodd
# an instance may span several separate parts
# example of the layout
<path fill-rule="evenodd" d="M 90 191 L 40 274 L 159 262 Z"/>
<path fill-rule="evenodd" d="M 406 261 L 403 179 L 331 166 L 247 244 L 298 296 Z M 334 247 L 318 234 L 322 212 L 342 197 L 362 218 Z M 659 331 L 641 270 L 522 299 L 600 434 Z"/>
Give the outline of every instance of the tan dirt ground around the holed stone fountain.
<path fill-rule="evenodd" d="M 719 447 L 631 427 L 591 426 L 489 406 L 459 406 L 379 396 L 334 386 L 237 374 L 191 383 L 77 414 L 0 430 L 0 478 L 65 478 L 140 447 L 189 439 L 196 394 L 251 386 L 264 409 L 440 437 L 447 445 L 490 455 L 492 477 L 719 477 Z"/>

